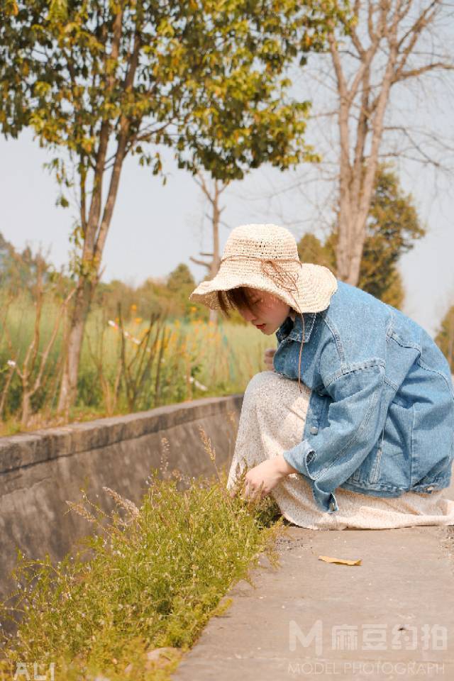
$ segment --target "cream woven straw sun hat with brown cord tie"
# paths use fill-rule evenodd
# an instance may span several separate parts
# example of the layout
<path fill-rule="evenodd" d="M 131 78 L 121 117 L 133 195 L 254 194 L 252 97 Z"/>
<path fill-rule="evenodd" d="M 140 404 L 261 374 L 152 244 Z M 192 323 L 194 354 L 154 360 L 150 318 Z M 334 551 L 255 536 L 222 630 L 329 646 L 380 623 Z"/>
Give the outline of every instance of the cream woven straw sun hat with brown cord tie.
<path fill-rule="evenodd" d="M 292 233 L 277 225 L 241 225 L 226 241 L 219 271 L 189 296 L 219 309 L 217 292 L 246 286 L 274 294 L 299 314 L 325 310 L 338 284 L 328 267 L 301 262 Z"/>

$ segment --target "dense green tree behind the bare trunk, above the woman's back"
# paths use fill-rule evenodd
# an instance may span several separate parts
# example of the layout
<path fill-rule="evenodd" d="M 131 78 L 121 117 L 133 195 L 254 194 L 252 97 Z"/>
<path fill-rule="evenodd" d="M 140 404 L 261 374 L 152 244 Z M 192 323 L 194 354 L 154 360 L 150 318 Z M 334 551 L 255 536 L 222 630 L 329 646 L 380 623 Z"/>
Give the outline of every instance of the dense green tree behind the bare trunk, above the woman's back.
<path fill-rule="evenodd" d="M 358 286 L 385 303 L 401 308 L 404 286 L 397 264 L 425 233 L 412 197 L 402 192 L 396 173 L 382 165 L 367 218 Z M 336 246 L 336 231 L 324 243 L 314 234 L 306 234 L 299 241 L 299 257 L 336 272 Z"/>

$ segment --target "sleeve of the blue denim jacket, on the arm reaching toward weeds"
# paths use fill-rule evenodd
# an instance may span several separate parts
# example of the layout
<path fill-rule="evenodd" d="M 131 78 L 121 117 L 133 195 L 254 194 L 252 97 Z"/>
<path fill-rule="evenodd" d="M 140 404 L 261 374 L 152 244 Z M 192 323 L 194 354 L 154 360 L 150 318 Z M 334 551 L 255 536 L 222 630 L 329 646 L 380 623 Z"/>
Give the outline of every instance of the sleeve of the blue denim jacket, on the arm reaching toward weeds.
<path fill-rule="evenodd" d="M 344 366 L 326 380 L 332 402 L 328 425 L 284 452 L 284 459 L 309 478 L 316 503 L 338 511 L 333 492 L 361 465 L 384 428 L 384 362 L 370 360 Z M 314 445 L 316 443 L 316 445 Z"/>

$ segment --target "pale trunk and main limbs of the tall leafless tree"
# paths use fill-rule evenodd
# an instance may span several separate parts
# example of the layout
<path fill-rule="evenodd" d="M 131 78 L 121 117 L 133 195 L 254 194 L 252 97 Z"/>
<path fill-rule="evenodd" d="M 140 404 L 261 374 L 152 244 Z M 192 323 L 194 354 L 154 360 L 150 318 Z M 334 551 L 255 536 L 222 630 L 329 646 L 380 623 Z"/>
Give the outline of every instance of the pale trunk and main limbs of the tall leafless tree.
<path fill-rule="evenodd" d="M 366 12 L 369 40 L 363 45 L 360 34 L 354 27 L 351 28 L 351 50 L 358 58 L 358 67 L 353 74 L 345 72 L 336 36 L 334 33 L 328 35 L 339 102 L 337 276 L 353 286 L 357 286 L 360 279 L 367 216 L 374 192 L 390 90 L 399 78 L 411 73 L 403 70 L 416 41 L 410 37 L 406 45 L 406 37 L 411 36 L 411 31 L 397 40 L 399 22 L 404 20 L 410 6 L 411 0 L 405 5 L 398 3 L 397 9 L 392 4 L 375 3 L 373 0 L 357 4 L 357 12 L 360 9 Z M 422 26 L 419 25 L 421 21 L 414 24 L 416 33 Z M 380 82 L 374 84 L 372 62 L 382 54 L 386 55 L 384 71 Z"/>

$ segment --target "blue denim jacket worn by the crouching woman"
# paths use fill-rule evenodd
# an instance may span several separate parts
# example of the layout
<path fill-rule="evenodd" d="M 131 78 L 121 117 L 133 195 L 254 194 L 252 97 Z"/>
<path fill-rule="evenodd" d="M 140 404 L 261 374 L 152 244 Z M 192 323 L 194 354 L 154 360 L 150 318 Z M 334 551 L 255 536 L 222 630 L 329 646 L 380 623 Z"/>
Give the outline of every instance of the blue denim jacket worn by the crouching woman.
<path fill-rule="evenodd" d="M 301 316 L 276 332 L 273 365 L 298 380 Z M 303 440 L 284 459 L 338 511 L 336 487 L 399 497 L 448 487 L 454 392 L 441 350 L 416 322 L 338 281 L 328 309 L 304 314 L 301 382 L 311 388 Z"/>

